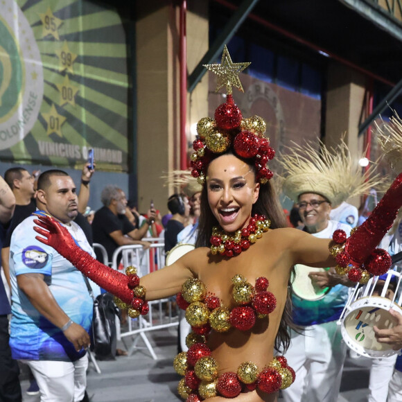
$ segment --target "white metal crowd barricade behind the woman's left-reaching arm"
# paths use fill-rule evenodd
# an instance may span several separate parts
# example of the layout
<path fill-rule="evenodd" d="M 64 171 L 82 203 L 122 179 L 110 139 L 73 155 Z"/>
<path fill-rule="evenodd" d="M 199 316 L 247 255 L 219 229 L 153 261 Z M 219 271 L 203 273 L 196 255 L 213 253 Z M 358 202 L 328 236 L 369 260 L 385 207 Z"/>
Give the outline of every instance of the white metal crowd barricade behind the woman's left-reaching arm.
<path fill-rule="evenodd" d="M 158 238 L 144 238 L 144 241 L 157 241 L 157 243 L 152 243 L 148 250 L 143 250 L 142 245 L 123 245 L 119 247 L 113 254 L 112 258 L 112 268 L 115 270 L 119 269 L 121 256 L 121 263 L 124 268 L 129 265 L 133 265 L 137 268 L 139 277 L 143 277 L 150 272 L 155 270 L 163 269 L 165 266 L 165 252 L 164 243 L 160 243 Z M 165 316 L 163 304 L 168 305 L 168 315 Z M 128 329 L 126 331 L 121 331 L 119 337 L 123 340 L 125 344 L 126 338 L 132 338 L 132 344 L 128 347 L 128 353 L 131 355 L 136 349 L 141 349 L 137 346 L 140 339 L 146 344 L 146 348 L 150 352 L 152 358 L 157 360 L 155 351 L 150 344 L 146 333 L 149 331 L 156 331 L 157 329 L 165 329 L 171 326 L 177 326 L 179 324 L 178 318 L 172 316 L 171 304 L 169 299 L 160 299 L 149 304 L 149 313 L 146 316 L 140 315 L 138 318 L 128 319 Z M 127 345 L 125 344 L 127 347 Z"/>

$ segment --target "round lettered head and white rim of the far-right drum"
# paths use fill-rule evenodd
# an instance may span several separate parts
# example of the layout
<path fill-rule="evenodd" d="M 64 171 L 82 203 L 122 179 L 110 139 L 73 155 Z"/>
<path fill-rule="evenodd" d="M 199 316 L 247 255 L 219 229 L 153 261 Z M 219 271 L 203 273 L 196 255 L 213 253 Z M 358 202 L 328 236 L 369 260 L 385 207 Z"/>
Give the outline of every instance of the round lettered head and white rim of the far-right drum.
<path fill-rule="evenodd" d="M 393 308 L 402 313 L 401 308 L 385 297 L 362 297 L 353 302 L 342 322 L 342 336 L 347 345 L 362 356 L 381 358 L 392 356 L 389 344 L 377 342 L 374 325 L 378 329 L 391 329 L 397 324 L 389 312 Z"/>

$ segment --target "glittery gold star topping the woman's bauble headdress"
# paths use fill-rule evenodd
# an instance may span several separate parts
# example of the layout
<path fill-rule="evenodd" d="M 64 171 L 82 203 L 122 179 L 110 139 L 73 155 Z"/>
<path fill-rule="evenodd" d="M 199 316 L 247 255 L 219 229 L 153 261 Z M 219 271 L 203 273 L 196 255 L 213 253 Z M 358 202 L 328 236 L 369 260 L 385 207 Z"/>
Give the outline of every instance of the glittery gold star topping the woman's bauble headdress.
<path fill-rule="evenodd" d="M 226 86 L 226 92 L 231 95 L 231 87 L 236 87 L 239 91 L 243 91 L 243 87 L 238 78 L 238 74 L 244 69 L 250 66 L 251 63 L 234 63 L 231 61 L 229 51 L 226 45 L 223 46 L 222 61 L 220 64 L 203 64 L 204 67 L 211 70 L 218 76 L 218 82 L 216 84 L 216 92 L 220 88 Z"/>

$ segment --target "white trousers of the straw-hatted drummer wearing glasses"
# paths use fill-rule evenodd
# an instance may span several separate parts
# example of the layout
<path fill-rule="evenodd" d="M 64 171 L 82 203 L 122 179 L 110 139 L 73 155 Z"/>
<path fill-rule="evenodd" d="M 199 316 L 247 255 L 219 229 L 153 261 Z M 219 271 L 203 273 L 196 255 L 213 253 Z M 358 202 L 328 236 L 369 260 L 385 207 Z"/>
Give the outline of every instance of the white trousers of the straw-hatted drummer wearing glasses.
<path fill-rule="evenodd" d="M 285 353 L 296 372 L 295 383 L 283 390 L 285 402 L 335 402 L 338 399 L 346 345 L 335 321 L 292 331 Z"/>

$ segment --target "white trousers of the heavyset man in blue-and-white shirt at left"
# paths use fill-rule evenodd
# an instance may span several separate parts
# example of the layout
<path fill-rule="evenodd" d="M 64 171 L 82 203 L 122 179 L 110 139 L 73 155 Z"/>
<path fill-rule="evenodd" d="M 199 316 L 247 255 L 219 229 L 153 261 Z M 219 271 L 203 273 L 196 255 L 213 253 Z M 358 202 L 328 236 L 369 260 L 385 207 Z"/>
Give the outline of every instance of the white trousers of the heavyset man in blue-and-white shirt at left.
<path fill-rule="evenodd" d="M 33 372 L 40 402 L 80 402 L 87 387 L 88 357 L 75 362 L 22 360 Z"/>

